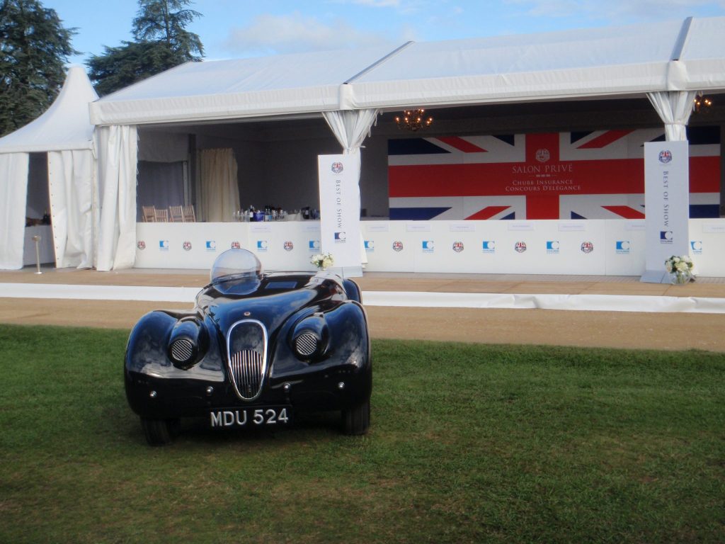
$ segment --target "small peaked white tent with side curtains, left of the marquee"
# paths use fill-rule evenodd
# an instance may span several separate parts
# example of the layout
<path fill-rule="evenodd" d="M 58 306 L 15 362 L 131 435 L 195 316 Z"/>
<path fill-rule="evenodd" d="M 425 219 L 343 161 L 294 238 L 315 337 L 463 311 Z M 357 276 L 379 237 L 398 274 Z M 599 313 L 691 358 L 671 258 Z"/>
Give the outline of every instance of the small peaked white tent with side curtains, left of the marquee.
<path fill-rule="evenodd" d="M 0 138 L 0 268 L 22 268 L 29 154 L 48 154 L 55 263 L 93 265 L 96 166 L 88 103 L 98 99 L 83 67 L 74 66 L 39 118 Z"/>

